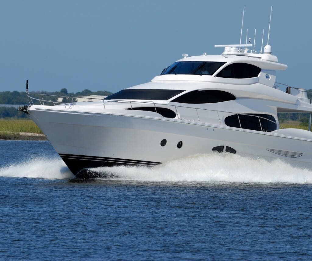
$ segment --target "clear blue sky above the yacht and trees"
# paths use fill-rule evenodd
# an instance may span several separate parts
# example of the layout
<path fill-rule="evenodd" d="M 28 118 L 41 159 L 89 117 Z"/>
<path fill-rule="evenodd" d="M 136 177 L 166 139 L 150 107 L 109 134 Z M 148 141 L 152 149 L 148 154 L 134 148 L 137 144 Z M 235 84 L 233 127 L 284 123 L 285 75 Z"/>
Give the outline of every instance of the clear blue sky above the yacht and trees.
<path fill-rule="evenodd" d="M 2 0 L 0 2 L 0 91 L 117 92 L 150 81 L 189 55 L 221 54 L 215 44 L 254 38 L 262 29 L 286 71 L 277 81 L 310 84 L 312 1 Z"/>

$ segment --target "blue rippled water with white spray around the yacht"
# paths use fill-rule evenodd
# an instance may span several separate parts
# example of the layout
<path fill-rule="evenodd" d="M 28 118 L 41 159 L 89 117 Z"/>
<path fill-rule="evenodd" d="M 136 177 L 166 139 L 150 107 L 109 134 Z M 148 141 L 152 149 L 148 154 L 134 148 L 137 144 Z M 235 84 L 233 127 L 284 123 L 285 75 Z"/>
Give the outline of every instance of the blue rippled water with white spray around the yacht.
<path fill-rule="evenodd" d="M 0 141 L 1 260 L 311 260 L 312 172 L 238 155 L 76 180 L 49 142 Z"/>

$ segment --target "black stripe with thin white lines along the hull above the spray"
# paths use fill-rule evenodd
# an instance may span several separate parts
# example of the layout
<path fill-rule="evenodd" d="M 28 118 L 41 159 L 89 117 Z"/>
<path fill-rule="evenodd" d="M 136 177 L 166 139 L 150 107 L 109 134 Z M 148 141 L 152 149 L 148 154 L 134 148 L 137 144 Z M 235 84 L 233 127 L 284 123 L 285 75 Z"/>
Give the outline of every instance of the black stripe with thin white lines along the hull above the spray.
<path fill-rule="evenodd" d="M 112 162 L 121 164 L 131 164 L 131 165 L 145 165 L 145 166 L 155 166 L 162 162 L 150 162 L 150 161 L 140 161 L 140 160 L 130 160 L 130 159 L 119 159 L 119 158 L 108 158 L 108 157 L 95 157 L 95 156 L 83 156 L 83 155 L 72 155 L 72 154 L 59 154 L 63 160 L 87 160 L 87 161 L 98 161 L 98 162 Z"/>

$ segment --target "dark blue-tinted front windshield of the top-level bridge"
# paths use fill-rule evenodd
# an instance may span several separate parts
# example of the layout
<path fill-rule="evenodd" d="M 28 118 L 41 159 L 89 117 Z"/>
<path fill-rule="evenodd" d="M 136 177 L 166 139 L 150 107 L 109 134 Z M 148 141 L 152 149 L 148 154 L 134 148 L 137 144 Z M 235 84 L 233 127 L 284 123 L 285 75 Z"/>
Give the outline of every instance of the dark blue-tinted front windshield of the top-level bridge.
<path fill-rule="evenodd" d="M 213 75 L 225 62 L 175 62 L 163 69 L 163 74 Z"/>

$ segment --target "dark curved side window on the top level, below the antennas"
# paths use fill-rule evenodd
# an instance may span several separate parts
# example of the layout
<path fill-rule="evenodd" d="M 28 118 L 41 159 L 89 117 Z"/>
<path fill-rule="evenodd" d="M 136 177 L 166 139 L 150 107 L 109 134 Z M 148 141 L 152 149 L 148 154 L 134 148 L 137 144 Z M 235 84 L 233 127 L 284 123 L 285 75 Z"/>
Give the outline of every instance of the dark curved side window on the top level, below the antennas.
<path fill-rule="evenodd" d="M 219 72 L 216 77 L 222 78 L 252 78 L 257 77 L 261 68 L 247 63 L 232 63 Z"/>

